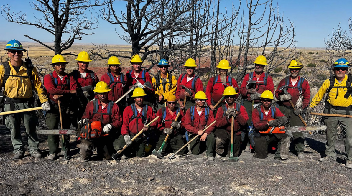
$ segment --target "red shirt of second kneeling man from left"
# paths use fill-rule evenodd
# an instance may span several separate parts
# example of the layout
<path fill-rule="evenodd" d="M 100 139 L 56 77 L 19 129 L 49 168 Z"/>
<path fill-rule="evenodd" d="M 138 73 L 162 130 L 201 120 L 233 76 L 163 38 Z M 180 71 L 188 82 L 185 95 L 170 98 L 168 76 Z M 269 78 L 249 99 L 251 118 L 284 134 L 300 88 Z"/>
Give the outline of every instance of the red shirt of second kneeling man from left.
<path fill-rule="evenodd" d="M 136 107 L 136 106 L 134 106 L 134 107 Z M 134 108 L 134 109 L 137 110 L 137 108 Z M 142 108 L 142 110 L 140 110 L 140 112 L 138 112 L 138 110 L 137 110 L 137 113 L 138 113 L 137 117 L 142 117 L 143 109 L 144 108 Z M 142 121 L 142 118 L 132 119 L 132 117 L 133 117 L 132 105 L 127 106 L 124 110 L 123 115 L 122 115 L 122 121 L 123 121 L 122 128 L 121 128 L 122 135 L 127 135 L 130 133 L 137 134 L 144 127 L 144 123 Z M 147 111 L 145 118 L 147 120 L 147 124 L 156 118 L 155 113 L 153 112 L 153 109 L 150 106 L 148 106 L 148 111 Z M 150 127 L 150 129 L 153 129 L 156 126 L 157 126 L 157 122 L 155 121 L 149 127 Z"/>

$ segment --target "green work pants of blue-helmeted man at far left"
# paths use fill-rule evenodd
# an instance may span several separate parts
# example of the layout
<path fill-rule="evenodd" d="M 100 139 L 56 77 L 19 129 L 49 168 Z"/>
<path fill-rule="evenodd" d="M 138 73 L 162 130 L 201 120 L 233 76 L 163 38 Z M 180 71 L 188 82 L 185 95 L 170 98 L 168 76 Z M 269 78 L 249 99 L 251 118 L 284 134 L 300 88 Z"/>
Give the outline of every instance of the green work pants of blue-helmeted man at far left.
<path fill-rule="evenodd" d="M 33 108 L 34 103 L 14 103 L 15 110 Z M 5 112 L 11 111 L 10 104 L 5 104 Z M 11 141 L 13 146 L 13 152 L 24 152 L 25 144 L 22 141 L 22 136 L 20 133 L 21 119 L 23 119 L 23 124 L 26 128 L 26 135 L 28 137 L 28 151 L 37 151 L 39 140 L 36 134 L 37 126 L 37 116 L 35 111 L 21 112 L 13 115 L 5 116 L 5 125 L 10 129 Z"/>

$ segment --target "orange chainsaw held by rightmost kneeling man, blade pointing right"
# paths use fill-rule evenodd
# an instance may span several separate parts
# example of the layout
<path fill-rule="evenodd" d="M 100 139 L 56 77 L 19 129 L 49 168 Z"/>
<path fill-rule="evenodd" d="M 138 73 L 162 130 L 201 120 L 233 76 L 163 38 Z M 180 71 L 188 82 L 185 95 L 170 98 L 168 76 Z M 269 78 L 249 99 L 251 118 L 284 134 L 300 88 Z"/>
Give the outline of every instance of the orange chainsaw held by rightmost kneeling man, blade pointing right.
<path fill-rule="evenodd" d="M 275 119 L 268 119 L 268 122 L 272 120 L 275 120 Z M 274 134 L 274 133 L 286 133 L 286 132 L 312 132 L 312 131 L 322 131 L 322 130 L 325 130 L 326 128 L 327 127 L 325 125 L 297 126 L 297 127 L 279 126 L 279 127 L 269 127 L 265 131 L 259 131 L 259 133 Z"/>

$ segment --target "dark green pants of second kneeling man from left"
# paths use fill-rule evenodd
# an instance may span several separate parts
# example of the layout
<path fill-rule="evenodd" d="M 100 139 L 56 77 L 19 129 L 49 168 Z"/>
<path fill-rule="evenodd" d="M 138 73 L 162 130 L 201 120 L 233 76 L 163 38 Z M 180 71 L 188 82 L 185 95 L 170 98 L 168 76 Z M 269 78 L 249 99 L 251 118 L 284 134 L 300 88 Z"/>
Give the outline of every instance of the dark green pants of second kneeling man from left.
<path fill-rule="evenodd" d="M 131 138 L 133 137 L 134 135 L 131 134 Z M 120 135 L 120 137 L 115 139 L 113 145 L 116 151 L 121 150 L 126 145 L 124 136 Z M 138 138 L 133 140 L 131 146 L 128 146 L 126 150 L 124 150 L 124 152 L 122 153 L 125 154 L 127 157 L 133 152 L 136 153 L 137 157 L 145 157 L 145 145 L 146 139 L 144 137 L 142 138 L 139 136 Z"/>

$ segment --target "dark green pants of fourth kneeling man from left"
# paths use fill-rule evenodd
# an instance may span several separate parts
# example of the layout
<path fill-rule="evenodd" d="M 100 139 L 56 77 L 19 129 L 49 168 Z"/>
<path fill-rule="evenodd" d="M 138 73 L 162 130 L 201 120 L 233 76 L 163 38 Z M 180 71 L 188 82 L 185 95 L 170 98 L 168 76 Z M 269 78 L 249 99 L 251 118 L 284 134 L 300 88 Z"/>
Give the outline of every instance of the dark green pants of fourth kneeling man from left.
<path fill-rule="evenodd" d="M 197 134 L 191 134 L 189 136 L 189 139 L 191 140 L 194 138 Z M 214 149 L 215 149 L 215 136 L 214 133 L 211 132 L 209 135 L 207 135 L 207 139 L 205 141 L 200 140 L 201 135 L 199 135 L 195 140 L 193 140 L 190 144 L 189 147 L 191 148 L 191 151 L 194 155 L 200 154 L 202 148 L 206 147 L 207 149 L 207 156 L 214 157 Z"/>

